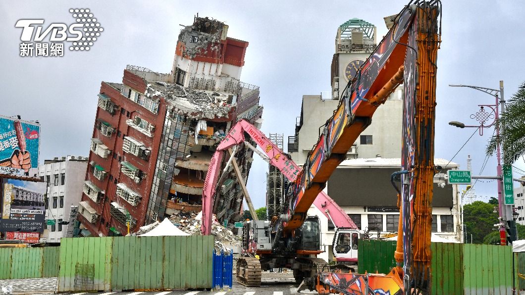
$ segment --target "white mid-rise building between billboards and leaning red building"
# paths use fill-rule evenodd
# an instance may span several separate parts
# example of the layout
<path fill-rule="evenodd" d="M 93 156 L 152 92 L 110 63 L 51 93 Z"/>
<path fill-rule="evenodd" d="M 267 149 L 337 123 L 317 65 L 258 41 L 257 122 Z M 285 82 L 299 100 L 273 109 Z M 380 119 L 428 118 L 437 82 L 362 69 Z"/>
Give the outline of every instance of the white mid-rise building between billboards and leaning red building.
<path fill-rule="evenodd" d="M 68 227 L 74 226 L 76 218 L 69 218 L 70 209 L 80 202 L 87 165 L 88 157 L 68 155 L 45 160 L 38 166 L 40 180 L 47 183 L 46 220 L 55 222 L 47 225 L 40 241 L 60 243 Z"/>

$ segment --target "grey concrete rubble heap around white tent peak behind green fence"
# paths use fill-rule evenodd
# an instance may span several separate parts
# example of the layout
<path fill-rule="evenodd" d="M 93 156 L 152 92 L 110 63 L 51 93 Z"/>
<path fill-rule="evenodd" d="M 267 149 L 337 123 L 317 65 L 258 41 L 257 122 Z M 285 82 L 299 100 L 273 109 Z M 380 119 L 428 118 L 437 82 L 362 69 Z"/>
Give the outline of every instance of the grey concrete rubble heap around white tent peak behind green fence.
<path fill-rule="evenodd" d="M 201 235 L 202 225 L 202 220 L 198 217 L 199 214 L 197 213 L 179 212 L 175 215 L 172 215 L 170 217 L 170 221 L 185 233 L 198 236 Z M 131 236 L 145 234 L 155 228 L 157 225 L 159 225 L 159 222 L 143 226 L 137 233 L 133 233 Z M 212 235 L 215 236 L 215 250 L 217 252 L 220 252 L 220 250 L 229 252 L 233 248 L 239 247 L 240 245 L 241 237 L 232 233 L 231 230 L 224 228 L 222 224 L 219 224 L 215 215 L 213 215 Z"/>

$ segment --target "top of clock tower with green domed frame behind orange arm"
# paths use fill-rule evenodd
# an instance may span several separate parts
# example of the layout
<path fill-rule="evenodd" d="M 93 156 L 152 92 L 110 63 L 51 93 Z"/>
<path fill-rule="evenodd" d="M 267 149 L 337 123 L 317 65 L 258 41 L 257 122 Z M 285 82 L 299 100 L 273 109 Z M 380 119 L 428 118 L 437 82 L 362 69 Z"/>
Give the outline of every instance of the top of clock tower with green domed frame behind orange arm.
<path fill-rule="evenodd" d="M 376 27 L 359 18 L 340 25 L 335 36 L 335 54 L 332 58 L 332 98 L 339 99 L 348 81 L 377 46 Z"/>

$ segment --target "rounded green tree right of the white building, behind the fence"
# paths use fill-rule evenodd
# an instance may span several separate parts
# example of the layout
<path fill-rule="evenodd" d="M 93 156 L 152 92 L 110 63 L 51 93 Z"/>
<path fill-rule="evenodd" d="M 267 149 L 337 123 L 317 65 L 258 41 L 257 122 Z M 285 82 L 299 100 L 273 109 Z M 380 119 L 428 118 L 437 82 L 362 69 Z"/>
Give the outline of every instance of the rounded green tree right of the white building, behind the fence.
<path fill-rule="evenodd" d="M 472 235 L 472 243 L 481 244 L 498 223 L 498 214 L 489 203 L 475 201 L 463 207 L 467 236 Z"/>

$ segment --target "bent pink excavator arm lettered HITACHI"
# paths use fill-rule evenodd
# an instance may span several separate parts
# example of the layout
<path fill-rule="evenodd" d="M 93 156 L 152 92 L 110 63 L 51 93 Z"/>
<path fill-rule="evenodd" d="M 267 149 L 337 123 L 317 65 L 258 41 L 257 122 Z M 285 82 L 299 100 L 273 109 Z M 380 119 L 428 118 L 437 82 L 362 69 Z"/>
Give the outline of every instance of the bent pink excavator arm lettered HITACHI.
<path fill-rule="evenodd" d="M 212 230 L 213 202 L 215 198 L 217 180 L 219 177 L 220 163 L 223 160 L 224 152 L 234 145 L 245 141 L 245 132 L 257 143 L 260 149 L 268 156 L 270 164 L 278 168 L 290 182 L 296 180 L 301 169 L 277 145 L 271 142 L 259 129 L 246 120 L 238 121 L 228 132 L 226 137 L 220 142 L 212 160 L 209 162 L 208 173 L 204 181 L 202 194 L 202 227 L 201 233 L 209 235 Z M 321 211 L 324 216 L 336 227 L 347 227 L 357 229 L 354 222 L 344 211 L 324 192 L 319 193 L 313 204 Z"/>

